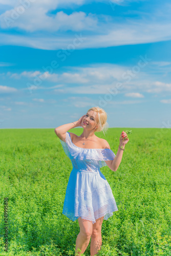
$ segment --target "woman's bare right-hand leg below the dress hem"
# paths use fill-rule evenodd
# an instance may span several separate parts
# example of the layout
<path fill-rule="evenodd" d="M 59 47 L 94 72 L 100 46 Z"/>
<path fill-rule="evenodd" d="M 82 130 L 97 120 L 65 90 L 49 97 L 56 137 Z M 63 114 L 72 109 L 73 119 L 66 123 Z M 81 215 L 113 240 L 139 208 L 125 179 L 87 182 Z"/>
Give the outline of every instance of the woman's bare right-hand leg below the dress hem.
<path fill-rule="evenodd" d="M 96 223 L 93 224 L 93 232 L 92 232 L 91 244 L 90 244 L 91 256 L 97 254 L 97 251 L 100 250 L 102 245 L 101 226 L 102 226 L 103 219 L 104 219 L 104 216 L 97 219 Z"/>

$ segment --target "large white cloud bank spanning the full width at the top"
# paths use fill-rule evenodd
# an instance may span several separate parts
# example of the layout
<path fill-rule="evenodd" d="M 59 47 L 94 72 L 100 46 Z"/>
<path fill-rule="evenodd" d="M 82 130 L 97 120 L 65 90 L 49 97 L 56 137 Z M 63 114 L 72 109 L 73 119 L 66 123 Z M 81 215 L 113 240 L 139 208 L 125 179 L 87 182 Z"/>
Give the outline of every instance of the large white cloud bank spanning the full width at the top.
<path fill-rule="evenodd" d="M 56 1 L 50 0 L 48 3 L 45 0 L 36 0 L 25 10 L 23 15 L 20 14 L 17 19 L 13 20 L 11 26 L 24 31 L 39 31 L 39 33 L 29 33 L 28 35 L 1 33 L 0 44 L 4 45 L 7 41 L 10 41 L 11 45 L 36 49 L 68 49 L 69 45 L 73 44 L 75 36 L 70 35 L 71 33 L 66 35 L 67 30 L 77 33 L 81 31 L 83 36 L 86 37 L 81 44 L 75 47 L 76 49 L 135 45 L 171 39 L 170 5 L 166 4 L 161 6 L 163 12 L 154 9 L 150 13 L 151 15 L 142 16 L 142 18 L 139 16 L 139 19 L 130 17 L 129 19 L 122 20 L 119 18 L 118 20 L 117 16 L 114 19 L 109 15 L 86 14 L 82 11 L 73 12 L 70 15 L 62 11 L 53 16 L 48 14 L 49 11 L 55 10 L 59 5 L 82 5 L 84 2 L 86 3 L 86 1 L 80 1 L 79 3 L 77 0 L 75 3 L 72 0 L 71 3 L 69 1 L 63 3 L 58 1 L 56 3 Z M 13 6 L 15 5 L 13 4 Z M 8 15 L 10 15 L 9 10 L 1 14 L 1 26 L 4 29 L 7 27 L 4 17 Z M 59 31 L 60 33 L 56 34 L 52 31 Z"/>

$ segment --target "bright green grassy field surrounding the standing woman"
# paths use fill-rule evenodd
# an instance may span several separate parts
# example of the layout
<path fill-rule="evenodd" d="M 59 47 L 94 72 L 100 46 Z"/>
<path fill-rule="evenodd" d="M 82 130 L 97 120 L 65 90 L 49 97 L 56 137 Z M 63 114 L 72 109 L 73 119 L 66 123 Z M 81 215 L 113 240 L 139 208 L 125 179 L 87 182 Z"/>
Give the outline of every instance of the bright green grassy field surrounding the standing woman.
<path fill-rule="evenodd" d="M 110 128 L 116 154 L 126 128 Z M 108 180 L 118 211 L 102 224 L 99 255 L 171 255 L 171 130 L 129 128 L 117 172 Z M 77 135 L 81 128 L 69 130 Z M 79 224 L 62 215 L 72 170 L 54 129 L 1 129 L 0 255 L 74 255 Z M 4 251 L 4 198 L 8 198 L 8 252 Z M 84 255 L 90 255 L 90 244 Z"/>

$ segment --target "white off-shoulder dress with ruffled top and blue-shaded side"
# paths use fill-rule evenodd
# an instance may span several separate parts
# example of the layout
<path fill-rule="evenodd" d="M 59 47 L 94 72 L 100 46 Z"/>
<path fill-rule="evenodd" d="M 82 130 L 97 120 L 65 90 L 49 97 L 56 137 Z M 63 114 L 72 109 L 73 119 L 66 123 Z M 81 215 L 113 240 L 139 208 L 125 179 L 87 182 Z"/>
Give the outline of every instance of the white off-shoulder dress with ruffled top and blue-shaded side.
<path fill-rule="evenodd" d="M 100 172 L 113 160 L 115 154 L 109 148 L 82 148 L 76 146 L 70 133 L 66 133 L 66 142 L 60 140 L 63 150 L 72 162 L 62 214 L 75 221 L 79 217 L 92 221 L 104 216 L 108 220 L 117 211 L 112 189 Z"/>

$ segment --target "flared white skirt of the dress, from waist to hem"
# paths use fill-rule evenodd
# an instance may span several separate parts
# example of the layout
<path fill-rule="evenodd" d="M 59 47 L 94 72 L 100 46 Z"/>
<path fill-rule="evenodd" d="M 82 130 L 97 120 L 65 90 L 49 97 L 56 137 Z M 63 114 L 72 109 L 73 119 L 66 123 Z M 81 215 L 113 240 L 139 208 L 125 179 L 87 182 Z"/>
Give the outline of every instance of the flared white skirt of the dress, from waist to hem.
<path fill-rule="evenodd" d="M 69 177 L 62 214 L 75 221 L 79 217 L 92 221 L 107 220 L 117 211 L 112 189 L 100 172 L 73 168 Z"/>

